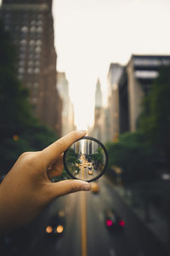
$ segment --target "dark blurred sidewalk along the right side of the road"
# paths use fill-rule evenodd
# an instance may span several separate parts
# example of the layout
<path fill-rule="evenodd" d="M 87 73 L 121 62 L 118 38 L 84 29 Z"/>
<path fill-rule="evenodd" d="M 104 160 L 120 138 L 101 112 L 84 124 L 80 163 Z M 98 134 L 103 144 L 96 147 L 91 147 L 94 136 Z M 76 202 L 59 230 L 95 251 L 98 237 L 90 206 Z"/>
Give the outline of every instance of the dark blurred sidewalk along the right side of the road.
<path fill-rule="evenodd" d="M 167 247 L 170 247 L 170 224 L 168 224 L 165 216 L 163 216 L 159 209 L 157 209 L 153 204 L 150 204 L 150 221 L 146 221 L 144 218 L 144 207 L 133 205 L 131 192 L 129 190 L 125 190 L 121 186 L 114 185 L 114 188 L 116 189 L 116 192 L 122 196 L 122 199 L 131 207 L 133 212 L 135 212 L 144 224 L 146 224 L 150 230 L 155 233 L 157 238 Z"/>

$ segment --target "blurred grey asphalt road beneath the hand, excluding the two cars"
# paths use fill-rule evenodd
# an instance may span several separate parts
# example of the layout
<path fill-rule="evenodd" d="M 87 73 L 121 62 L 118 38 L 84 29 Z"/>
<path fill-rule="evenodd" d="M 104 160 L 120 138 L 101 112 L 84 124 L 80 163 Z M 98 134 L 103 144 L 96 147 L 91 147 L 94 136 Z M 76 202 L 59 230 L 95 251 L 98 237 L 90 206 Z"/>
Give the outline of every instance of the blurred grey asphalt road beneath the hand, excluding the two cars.
<path fill-rule="evenodd" d="M 31 224 L 25 253 L 32 256 L 167 256 L 161 242 L 127 207 L 111 183 L 101 177 L 99 194 L 77 192 L 66 195 L 48 207 Z M 110 232 L 104 211 L 115 208 L 125 221 L 124 230 Z M 48 219 L 58 210 L 65 211 L 65 230 L 59 238 L 47 237 Z M 23 250 L 23 247 L 22 247 Z M 10 255 L 10 254 L 8 254 Z M 12 255 L 12 254 L 11 254 Z"/>

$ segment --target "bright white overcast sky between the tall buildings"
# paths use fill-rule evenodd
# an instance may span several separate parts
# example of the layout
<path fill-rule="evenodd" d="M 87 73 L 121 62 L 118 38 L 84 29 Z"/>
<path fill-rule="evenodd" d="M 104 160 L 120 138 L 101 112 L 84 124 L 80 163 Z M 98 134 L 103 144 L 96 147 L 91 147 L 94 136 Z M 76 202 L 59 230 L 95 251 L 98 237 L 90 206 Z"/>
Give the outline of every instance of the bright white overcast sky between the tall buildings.
<path fill-rule="evenodd" d="M 169 0 L 54 0 L 57 69 L 69 80 L 79 128 L 93 120 L 95 85 L 99 77 L 105 94 L 111 62 L 170 55 L 169 11 Z"/>

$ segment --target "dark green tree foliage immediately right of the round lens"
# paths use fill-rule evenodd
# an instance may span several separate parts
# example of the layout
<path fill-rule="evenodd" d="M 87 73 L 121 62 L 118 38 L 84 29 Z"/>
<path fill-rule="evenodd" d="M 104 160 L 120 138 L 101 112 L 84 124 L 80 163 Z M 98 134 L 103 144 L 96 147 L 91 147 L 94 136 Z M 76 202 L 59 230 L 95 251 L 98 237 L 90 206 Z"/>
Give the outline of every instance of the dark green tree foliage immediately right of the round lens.
<path fill-rule="evenodd" d="M 106 148 L 110 172 L 113 172 L 113 166 L 121 167 L 125 185 L 149 181 L 156 176 L 154 152 L 145 143 L 143 132 L 127 132 L 119 137 L 117 143 L 107 143 Z"/>

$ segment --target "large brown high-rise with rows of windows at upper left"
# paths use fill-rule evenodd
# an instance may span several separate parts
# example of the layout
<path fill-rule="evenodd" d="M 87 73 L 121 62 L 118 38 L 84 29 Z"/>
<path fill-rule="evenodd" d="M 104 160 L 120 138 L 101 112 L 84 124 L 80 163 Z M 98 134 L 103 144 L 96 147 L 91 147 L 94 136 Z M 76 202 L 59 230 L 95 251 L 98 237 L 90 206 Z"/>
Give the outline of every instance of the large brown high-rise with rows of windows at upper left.
<path fill-rule="evenodd" d="M 18 77 L 30 90 L 35 115 L 60 136 L 52 0 L 3 0 L 0 17 L 18 49 Z"/>

